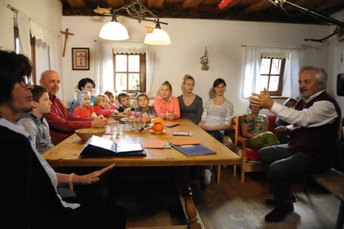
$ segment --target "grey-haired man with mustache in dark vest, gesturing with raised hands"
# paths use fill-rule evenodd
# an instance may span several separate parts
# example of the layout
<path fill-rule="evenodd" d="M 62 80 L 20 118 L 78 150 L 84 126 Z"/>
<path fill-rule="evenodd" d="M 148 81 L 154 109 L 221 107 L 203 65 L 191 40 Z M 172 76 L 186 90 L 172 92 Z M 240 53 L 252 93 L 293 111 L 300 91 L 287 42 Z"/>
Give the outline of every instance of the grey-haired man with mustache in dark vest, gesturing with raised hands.
<path fill-rule="evenodd" d="M 338 156 L 338 129 L 341 109 L 326 89 L 327 74 L 320 67 L 302 67 L 299 72 L 299 90 L 302 99 L 294 109 L 274 102 L 268 91 L 252 94 L 250 104 L 269 109 L 288 127 L 276 131 L 290 132 L 290 142 L 270 146 L 259 151 L 274 190 L 275 209 L 266 215 L 266 221 L 282 221 L 294 210 L 291 182 L 294 177 L 321 173 L 331 168 Z"/>

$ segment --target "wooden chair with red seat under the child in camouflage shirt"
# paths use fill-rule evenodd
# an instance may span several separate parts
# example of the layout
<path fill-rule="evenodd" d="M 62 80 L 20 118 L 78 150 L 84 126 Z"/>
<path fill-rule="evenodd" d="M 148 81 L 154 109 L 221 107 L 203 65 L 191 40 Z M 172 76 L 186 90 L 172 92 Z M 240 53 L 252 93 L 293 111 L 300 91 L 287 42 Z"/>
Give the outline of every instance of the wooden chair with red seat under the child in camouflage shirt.
<path fill-rule="evenodd" d="M 247 147 L 247 138 L 243 138 L 241 136 L 241 122 L 242 116 L 237 116 L 233 118 L 232 123 L 230 127 L 232 128 L 231 131 L 235 133 L 235 142 L 237 149 L 235 149 L 235 153 L 237 153 L 241 157 L 241 162 L 239 164 L 241 168 L 240 172 L 240 179 L 241 182 L 245 182 L 245 173 L 249 172 L 259 172 L 264 171 L 263 167 L 261 166 L 259 160 L 258 160 L 258 151 L 254 149 L 250 149 Z M 275 128 L 275 119 L 276 116 L 268 116 L 269 120 L 269 131 L 274 132 Z M 236 167 L 234 166 L 233 175 L 236 174 Z"/>

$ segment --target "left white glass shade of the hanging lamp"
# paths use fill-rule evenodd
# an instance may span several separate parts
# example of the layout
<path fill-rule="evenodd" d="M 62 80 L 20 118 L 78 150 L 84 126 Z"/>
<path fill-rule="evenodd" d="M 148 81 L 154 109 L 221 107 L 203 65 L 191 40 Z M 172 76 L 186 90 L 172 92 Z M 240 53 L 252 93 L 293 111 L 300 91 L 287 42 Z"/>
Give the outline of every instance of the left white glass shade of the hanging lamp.
<path fill-rule="evenodd" d="M 103 25 L 99 37 L 107 40 L 122 41 L 129 39 L 128 31 L 124 25 L 111 21 Z"/>

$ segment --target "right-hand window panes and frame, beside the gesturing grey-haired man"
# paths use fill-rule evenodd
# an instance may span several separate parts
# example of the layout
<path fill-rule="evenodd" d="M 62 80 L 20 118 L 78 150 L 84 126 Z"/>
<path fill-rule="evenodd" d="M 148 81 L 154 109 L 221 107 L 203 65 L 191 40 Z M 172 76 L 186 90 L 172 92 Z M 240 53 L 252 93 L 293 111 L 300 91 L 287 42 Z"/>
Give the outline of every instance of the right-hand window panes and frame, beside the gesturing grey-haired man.
<path fill-rule="evenodd" d="M 261 58 L 260 89 L 268 89 L 271 96 L 282 96 L 283 72 L 286 58 Z"/>

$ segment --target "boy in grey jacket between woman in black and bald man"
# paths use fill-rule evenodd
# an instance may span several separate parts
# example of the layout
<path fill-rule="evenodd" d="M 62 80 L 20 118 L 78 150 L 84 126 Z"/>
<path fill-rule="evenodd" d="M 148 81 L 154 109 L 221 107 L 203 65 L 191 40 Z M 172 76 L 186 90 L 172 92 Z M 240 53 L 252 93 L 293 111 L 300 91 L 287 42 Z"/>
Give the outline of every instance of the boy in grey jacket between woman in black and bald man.
<path fill-rule="evenodd" d="M 44 87 L 34 85 L 31 93 L 32 107 L 29 112 L 21 114 L 18 123 L 25 128 L 25 131 L 28 131 L 31 142 L 37 151 L 43 154 L 54 147 L 49 134 L 49 125 L 43 117 L 45 113 L 50 112 L 52 102 L 49 100 L 47 89 Z"/>

